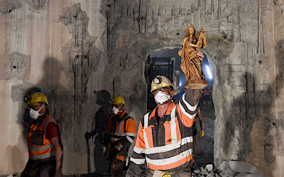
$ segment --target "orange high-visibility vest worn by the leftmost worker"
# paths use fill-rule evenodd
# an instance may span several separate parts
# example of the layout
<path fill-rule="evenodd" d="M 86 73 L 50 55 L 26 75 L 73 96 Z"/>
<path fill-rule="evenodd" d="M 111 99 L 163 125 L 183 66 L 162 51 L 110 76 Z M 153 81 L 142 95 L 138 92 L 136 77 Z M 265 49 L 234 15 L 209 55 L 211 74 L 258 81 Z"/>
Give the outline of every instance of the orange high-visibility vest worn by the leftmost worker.
<path fill-rule="evenodd" d="M 43 115 L 45 116 L 45 115 Z M 58 125 L 50 115 L 46 115 L 41 121 L 33 122 L 28 130 L 28 154 L 30 159 L 46 159 L 55 152 L 53 144 L 46 138 L 46 129 L 49 123 Z M 59 125 L 58 125 L 59 126 Z"/>

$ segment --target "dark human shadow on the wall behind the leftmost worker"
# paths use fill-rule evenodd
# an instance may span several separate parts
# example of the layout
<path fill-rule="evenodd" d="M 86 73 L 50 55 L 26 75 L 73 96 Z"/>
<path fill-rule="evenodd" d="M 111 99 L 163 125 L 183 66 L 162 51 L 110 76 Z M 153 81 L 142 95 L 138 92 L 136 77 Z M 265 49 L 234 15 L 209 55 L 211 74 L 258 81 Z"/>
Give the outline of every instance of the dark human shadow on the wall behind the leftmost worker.
<path fill-rule="evenodd" d="M 77 137 L 76 131 L 75 110 L 77 105 L 75 105 L 74 92 L 60 84 L 62 67 L 63 63 L 58 59 L 54 57 L 45 58 L 41 69 L 43 77 L 36 85 L 42 89 L 48 98 L 49 114 L 60 122 L 63 145 L 68 149 L 75 150 L 77 138 L 82 139 L 82 137 Z"/>

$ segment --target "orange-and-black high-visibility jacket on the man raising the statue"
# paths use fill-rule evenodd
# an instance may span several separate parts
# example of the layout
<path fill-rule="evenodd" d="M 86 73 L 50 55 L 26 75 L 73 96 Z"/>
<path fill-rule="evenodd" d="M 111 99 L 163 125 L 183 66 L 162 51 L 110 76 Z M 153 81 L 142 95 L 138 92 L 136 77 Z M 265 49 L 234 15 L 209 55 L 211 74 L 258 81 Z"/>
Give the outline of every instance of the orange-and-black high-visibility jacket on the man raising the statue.
<path fill-rule="evenodd" d="M 196 93 L 195 96 L 192 93 Z M 190 168 L 192 124 L 199 96 L 199 91 L 186 89 L 178 105 L 172 102 L 160 122 L 156 118 L 158 107 L 144 115 L 138 127 L 128 176 L 141 176 L 145 163 L 151 170 L 180 171 Z"/>

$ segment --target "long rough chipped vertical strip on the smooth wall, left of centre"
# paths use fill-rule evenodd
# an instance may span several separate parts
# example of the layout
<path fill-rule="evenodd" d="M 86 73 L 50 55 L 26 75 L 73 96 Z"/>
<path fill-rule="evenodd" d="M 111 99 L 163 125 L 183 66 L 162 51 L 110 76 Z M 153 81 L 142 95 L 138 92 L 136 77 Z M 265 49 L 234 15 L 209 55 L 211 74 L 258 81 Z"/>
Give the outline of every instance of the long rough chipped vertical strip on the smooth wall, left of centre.
<path fill-rule="evenodd" d="M 81 4 L 63 8 L 60 21 L 67 25 L 72 38 L 62 47 L 65 64 L 62 69 L 70 80 L 68 84 L 70 92 L 65 95 L 67 102 L 58 103 L 59 114 L 64 123 L 63 134 L 73 135 L 66 139 L 68 147 L 74 147 L 75 152 L 84 154 L 86 148 L 80 144 L 85 144 L 86 140 L 81 137 L 84 137 L 86 131 L 82 130 L 85 130 L 85 125 L 93 119 L 95 106 L 95 103 L 87 102 L 87 84 L 90 75 L 97 71 L 102 54 L 95 47 L 97 37 L 89 35 L 87 31 L 89 17 L 82 11 Z M 58 112 L 58 108 L 55 112 Z M 64 115 L 70 115 L 72 119 L 64 118 Z M 73 129 L 67 127 L 73 127 Z"/>

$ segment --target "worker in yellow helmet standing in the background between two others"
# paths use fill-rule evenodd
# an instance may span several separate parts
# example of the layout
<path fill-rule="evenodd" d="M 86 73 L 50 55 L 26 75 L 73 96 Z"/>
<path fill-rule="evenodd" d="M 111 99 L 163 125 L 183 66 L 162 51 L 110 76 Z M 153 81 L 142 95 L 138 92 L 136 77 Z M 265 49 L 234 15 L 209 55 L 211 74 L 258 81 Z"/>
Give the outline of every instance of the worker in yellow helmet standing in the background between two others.
<path fill-rule="evenodd" d="M 111 105 L 113 114 L 104 135 L 102 155 L 109 149 L 111 176 L 124 176 L 124 162 L 128 160 L 129 147 L 135 139 L 136 124 L 124 110 L 124 98 L 115 96 L 111 99 Z"/>

